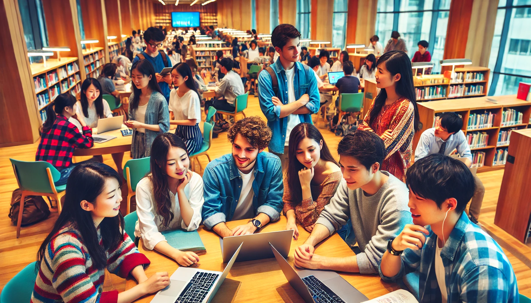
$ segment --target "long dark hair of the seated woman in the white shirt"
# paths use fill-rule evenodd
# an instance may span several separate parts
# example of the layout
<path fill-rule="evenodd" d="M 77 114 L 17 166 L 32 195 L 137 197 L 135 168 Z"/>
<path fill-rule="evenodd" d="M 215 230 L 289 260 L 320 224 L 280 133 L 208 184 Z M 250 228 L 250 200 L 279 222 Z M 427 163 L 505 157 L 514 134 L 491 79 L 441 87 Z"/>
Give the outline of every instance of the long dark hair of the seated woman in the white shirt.
<path fill-rule="evenodd" d="M 168 228 L 174 218 L 166 175 L 166 159 L 172 146 L 183 149 L 188 155 L 186 144 L 179 136 L 172 133 L 159 134 L 151 144 L 151 158 L 149 160 L 151 173 L 148 174 L 153 186 L 153 197 L 156 201 L 155 209 L 157 214 L 162 217 L 162 226 Z"/>

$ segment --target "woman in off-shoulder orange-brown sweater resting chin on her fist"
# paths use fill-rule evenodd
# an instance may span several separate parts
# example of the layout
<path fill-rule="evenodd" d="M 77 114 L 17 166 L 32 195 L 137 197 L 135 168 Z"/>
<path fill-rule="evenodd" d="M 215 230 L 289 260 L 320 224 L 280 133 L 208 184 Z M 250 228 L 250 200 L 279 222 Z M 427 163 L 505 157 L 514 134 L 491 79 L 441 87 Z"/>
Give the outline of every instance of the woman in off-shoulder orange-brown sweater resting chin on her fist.
<path fill-rule="evenodd" d="M 293 128 L 289 137 L 289 158 L 282 212 L 288 219 L 286 230 L 293 230 L 296 240 L 295 219 L 311 232 L 324 206 L 336 193 L 342 174 L 323 135 L 310 123 Z"/>

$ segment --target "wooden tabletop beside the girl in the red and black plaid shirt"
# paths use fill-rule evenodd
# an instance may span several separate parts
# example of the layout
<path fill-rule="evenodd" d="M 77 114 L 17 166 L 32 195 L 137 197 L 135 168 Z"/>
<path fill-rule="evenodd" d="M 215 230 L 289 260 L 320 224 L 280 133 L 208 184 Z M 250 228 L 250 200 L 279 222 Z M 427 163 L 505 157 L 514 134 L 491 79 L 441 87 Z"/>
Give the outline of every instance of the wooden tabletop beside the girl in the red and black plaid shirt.
<path fill-rule="evenodd" d="M 97 131 L 98 128 L 93 128 Z M 122 136 L 120 132 L 122 129 L 127 129 L 127 126 L 122 124 L 122 128 L 115 129 L 114 131 L 108 131 L 100 135 L 115 136 L 113 140 L 98 143 L 94 142 L 94 146 L 90 149 L 75 149 L 74 155 L 99 155 L 99 154 L 109 154 L 109 153 L 118 153 L 126 152 L 131 150 L 131 140 L 133 136 Z"/>

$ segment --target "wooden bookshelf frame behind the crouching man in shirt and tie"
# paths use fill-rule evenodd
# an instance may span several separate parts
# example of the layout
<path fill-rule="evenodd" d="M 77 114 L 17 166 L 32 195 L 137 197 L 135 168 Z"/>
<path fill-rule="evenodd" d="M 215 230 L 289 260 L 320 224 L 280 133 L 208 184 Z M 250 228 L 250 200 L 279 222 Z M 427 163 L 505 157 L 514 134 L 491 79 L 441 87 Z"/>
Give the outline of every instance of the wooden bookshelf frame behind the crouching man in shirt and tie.
<path fill-rule="evenodd" d="M 421 131 L 416 132 L 413 138 L 413 155 L 418 144 L 418 140 L 421 137 L 422 132 L 426 129 L 434 127 L 435 115 L 440 112 L 453 111 L 463 117 L 463 128 L 461 130 L 467 134 L 467 132 L 485 132 L 489 135 L 489 141 L 486 147 L 475 148 L 473 151 L 485 152 L 485 162 L 483 167 L 478 168 L 478 172 L 489 171 L 495 169 L 502 169 L 504 165 L 493 165 L 493 161 L 498 149 L 507 148 L 507 144 L 496 146 L 498 144 L 498 135 L 501 130 L 506 130 L 510 127 L 516 129 L 527 128 L 529 125 L 529 118 L 531 117 L 531 102 L 520 100 L 516 98 L 516 94 L 509 96 L 495 96 L 491 97 L 498 101 L 498 104 L 491 103 L 486 100 L 486 97 L 476 98 L 460 98 L 439 100 L 431 102 L 419 102 L 418 113 L 420 122 L 422 123 Z M 515 109 L 523 113 L 522 123 L 515 125 L 501 126 L 502 112 L 507 109 Z M 484 127 L 478 129 L 468 129 L 468 117 L 470 114 L 479 114 L 482 112 L 492 112 L 495 114 L 492 127 Z"/>

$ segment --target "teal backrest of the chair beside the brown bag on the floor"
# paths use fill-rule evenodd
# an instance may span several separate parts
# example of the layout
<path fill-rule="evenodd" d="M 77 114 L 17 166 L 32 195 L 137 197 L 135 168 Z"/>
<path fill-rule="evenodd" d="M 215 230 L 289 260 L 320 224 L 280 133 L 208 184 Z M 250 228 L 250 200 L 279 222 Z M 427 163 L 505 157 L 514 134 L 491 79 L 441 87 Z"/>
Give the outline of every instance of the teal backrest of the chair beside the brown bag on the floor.
<path fill-rule="evenodd" d="M 58 181 L 61 173 L 51 163 L 46 161 L 19 161 L 9 159 L 20 189 L 36 193 L 53 193 L 46 168 L 52 172 L 54 182 Z"/>

